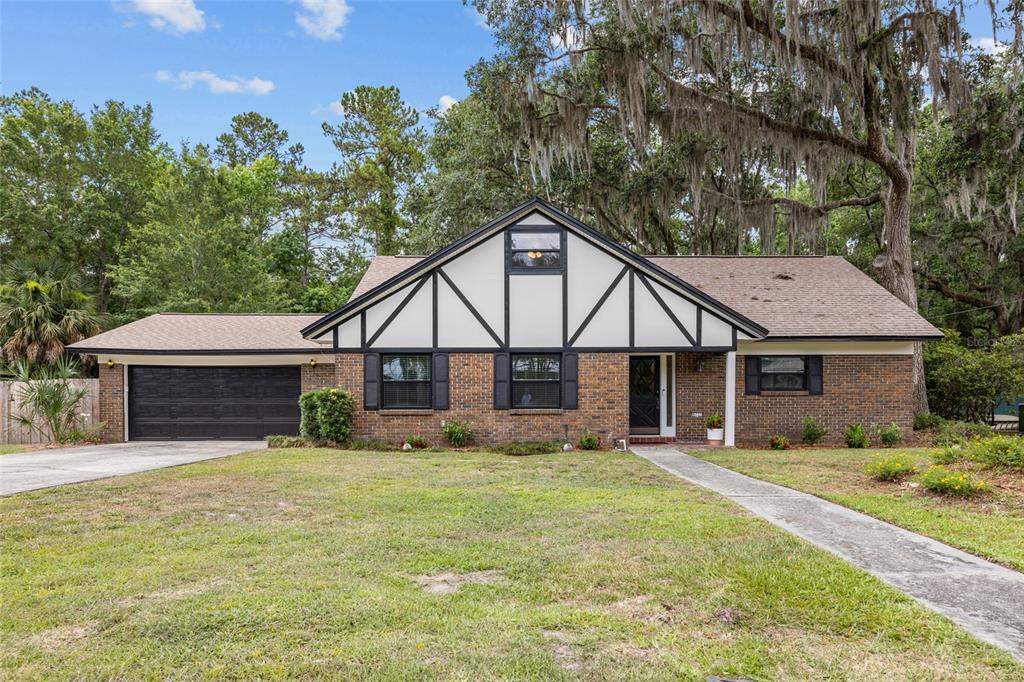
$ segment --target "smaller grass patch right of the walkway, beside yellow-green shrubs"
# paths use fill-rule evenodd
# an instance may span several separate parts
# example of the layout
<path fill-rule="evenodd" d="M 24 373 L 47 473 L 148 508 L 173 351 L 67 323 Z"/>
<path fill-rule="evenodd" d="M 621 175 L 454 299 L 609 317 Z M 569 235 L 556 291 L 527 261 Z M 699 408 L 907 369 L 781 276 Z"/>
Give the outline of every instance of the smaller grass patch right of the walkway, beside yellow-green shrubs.
<path fill-rule="evenodd" d="M 912 485 L 874 481 L 863 473 L 878 450 L 715 450 L 692 453 L 734 471 L 804 491 L 896 525 L 935 538 L 978 556 L 1024 570 L 1024 475 L 978 471 L 991 493 L 950 500 Z M 928 450 L 901 449 L 919 466 Z"/>

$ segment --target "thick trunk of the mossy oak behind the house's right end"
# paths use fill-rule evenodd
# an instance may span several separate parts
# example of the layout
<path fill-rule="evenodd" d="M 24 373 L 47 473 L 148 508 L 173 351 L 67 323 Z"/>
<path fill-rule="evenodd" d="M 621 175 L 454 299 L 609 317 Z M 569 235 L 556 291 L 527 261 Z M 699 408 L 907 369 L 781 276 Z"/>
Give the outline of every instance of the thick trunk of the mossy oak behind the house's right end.
<path fill-rule="evenodd" d="M 913 260 L 910 257 L 910 189 L 913 176 L 907 166 L 890 172 L 889 194 L 886 197 L 886 215 L 882 223 L 882 253 L 874 259 L 882 286 L 918 309 L 918 285 L 913 279 Z M 924 347 L 913 345 L 913 409 L 928 412 L 928 391 L 925 388 Z"/>

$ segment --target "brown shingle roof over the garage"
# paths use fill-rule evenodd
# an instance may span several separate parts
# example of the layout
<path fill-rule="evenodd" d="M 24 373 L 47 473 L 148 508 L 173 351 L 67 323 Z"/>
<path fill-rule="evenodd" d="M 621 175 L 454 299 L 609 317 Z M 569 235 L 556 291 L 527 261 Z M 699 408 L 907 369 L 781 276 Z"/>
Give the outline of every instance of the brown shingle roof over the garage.
<path fill-rule="evenodd" d="M 169 312 L 136 319 L 79 341 L 69 348 L 90 350 L 156 350 L 159 352 L 323 350 L 303 339 L 303 327 L 319 314 L 190 314 Z"/>

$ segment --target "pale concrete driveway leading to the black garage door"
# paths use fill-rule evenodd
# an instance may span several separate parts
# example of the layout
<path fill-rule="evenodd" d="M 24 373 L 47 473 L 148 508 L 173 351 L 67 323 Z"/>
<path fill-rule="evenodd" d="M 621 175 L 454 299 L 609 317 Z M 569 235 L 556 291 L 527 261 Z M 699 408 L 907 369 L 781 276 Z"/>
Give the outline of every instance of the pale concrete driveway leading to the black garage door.
<path fill-rule="evenodd" d="M 266 447 L 260 440 L 117 442 L 0 455 L 0 495 L 176 467 Z"/>

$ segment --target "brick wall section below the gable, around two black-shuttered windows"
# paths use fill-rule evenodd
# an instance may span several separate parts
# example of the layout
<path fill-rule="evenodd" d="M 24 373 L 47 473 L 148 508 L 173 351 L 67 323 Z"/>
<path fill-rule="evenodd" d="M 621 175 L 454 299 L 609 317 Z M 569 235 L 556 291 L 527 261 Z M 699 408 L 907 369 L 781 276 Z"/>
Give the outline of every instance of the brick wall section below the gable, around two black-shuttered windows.
<path fill-rule="evenodd" d="M 579 410 L 495 410 L 494 355 L 449 355 L 449 410 L 364 411 L 362 355 L 340 353 L 335 359 L 337 385 L 352 393 L 356 413 L 352 433 L 357 438 L 398 442 L 422 435 L 442 444 L 441 421 L 468 420 L 480 442 L 506 440 L 575 440 L 589 428 L 607 443 L 629 433 L 629 355 L 580 353 Z"/>

